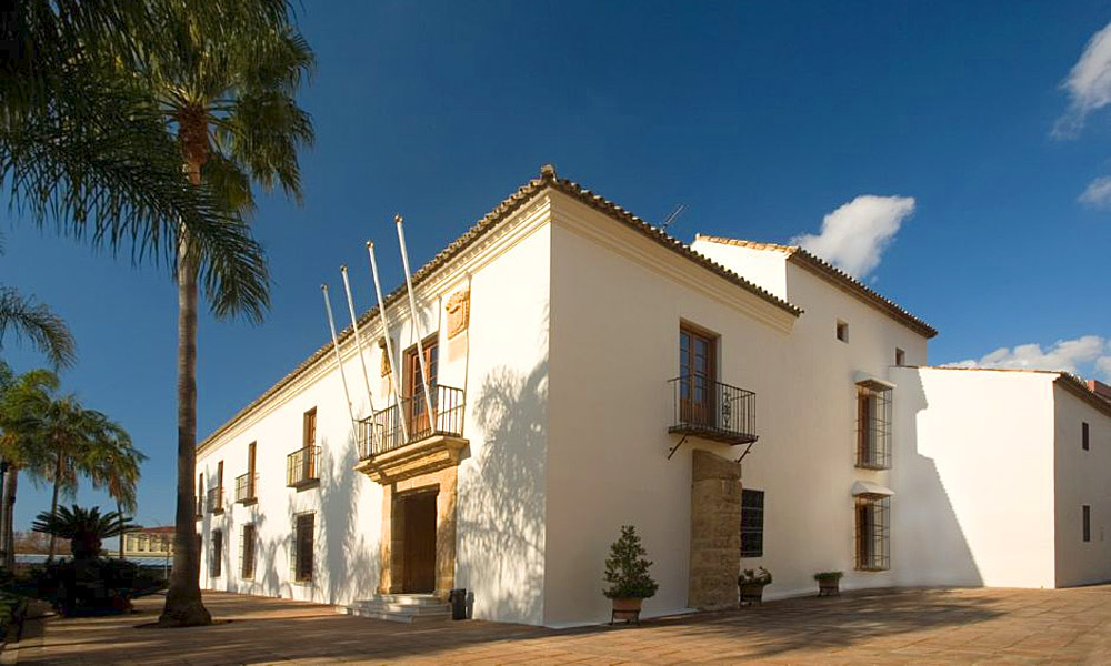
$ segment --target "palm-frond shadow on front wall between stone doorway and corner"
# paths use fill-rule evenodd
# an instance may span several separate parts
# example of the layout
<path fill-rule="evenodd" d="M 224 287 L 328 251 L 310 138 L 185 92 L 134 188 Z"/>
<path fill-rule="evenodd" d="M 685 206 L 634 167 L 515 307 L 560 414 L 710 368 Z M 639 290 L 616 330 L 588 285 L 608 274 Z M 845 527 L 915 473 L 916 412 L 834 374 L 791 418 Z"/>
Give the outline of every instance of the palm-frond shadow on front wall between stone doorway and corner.
<path fill-rule="evenodd" d="M 492 370 L 471 412 L 484 432 L 459 484 L 457 585 L 480 617 L 543 618 L 548 362 L 527 375 Z"/>

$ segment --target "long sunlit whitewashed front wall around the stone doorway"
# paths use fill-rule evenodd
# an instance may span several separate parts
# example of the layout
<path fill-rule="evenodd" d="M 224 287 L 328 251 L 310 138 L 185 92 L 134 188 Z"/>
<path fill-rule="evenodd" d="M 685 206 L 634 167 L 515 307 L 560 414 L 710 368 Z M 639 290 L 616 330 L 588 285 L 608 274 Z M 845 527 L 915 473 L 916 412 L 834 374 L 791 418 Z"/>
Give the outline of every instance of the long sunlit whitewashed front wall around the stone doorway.
<path fill-rule="evenodd" d="M 379 252 L 383 249 L 379 248 Z M 474 594 L 474 616 L 539 624 L 543 607 L 544 447 L 548 372 L 550 232 L 547 201 L 514 214 L 498 233 L 456 258 L 418 292 L 423 336 L 440 332 L 440 383 L 466 386 L 467 458 L 459 468 L 457 585 Z M 387 287 L 402 276 L 383 275 Z M 366 271 L 352 270 L 358 301 L 370 302 Z M 338 281 L 337 281 L 338 282 Z M 470 286 L 470 330 L 451 341 L 442 325 L 443 303 Z M 332 306 L 340 326 L 349 323 L 342 286 Z M 394 353 L 417 340 L 408 302 L 389 309 Z M 320 313 L 321 339 L 327 324 Z M 390 380 L 380 373 L 378 320 L 362 331 L 376 407 L 389 404 Z M 356 417 L 369 415 L 362 370 L 353 339 L 343 345 L 344 372 Z M 353 432 L 334 356 L 330 353 L 294 384 L 256 407 L 198 456 L 206 488 L 216 484 L 224 461 L 226 514 L 206 511 L 201 584 L 268 596 L 346 604 L 371 597 L 379 583 L 382 487 L 352 467 Z M 321 446 L 319 487 L 286 487 L 286 456 L 301 447 L 302 414 L 317 408 Z M 247 471 L 247 446 L 258 442 L 258 504 L 233 504 L 234 478 Z M 316 567 L 311 584 L 291 582 L 293 515 L 313 511 Z M 253 581 L 239 567 L 241 526 L 258 528 Z M 211 531 L 224 531 L 222 575 L 210 572 Z"/>

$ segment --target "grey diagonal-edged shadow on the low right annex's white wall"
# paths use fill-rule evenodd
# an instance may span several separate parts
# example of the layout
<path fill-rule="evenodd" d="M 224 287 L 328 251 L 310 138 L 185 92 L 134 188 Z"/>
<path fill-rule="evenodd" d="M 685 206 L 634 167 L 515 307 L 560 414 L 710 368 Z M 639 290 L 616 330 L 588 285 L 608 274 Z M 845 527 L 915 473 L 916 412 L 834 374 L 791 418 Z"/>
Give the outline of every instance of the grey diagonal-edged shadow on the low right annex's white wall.
<path fill-rule="evenodd" d="M 895 545 L 891 567 L 900 585 L 982 586 L 983 578 L 969 548 L 933 458 L 920 453 L 919 415 L 929 402 L 921 376 L 899 373 L 897 417 L 908 421 L 899 430 L 892 473 L 895 496 L 891 502 L 891 539 Z"/>

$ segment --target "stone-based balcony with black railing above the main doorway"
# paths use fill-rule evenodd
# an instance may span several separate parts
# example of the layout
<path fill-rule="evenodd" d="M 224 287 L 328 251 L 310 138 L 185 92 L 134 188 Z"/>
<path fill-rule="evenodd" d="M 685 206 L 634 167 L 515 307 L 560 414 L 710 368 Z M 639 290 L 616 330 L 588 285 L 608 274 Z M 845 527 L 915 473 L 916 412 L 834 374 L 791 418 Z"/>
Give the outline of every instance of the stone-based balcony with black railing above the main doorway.
<path fill-rule="evenodd" d="M 392 483 L 458 465 L 468 444 L 463 438 L 464 392 L 437 384 L 431 397 L 431 417 L 421 394 L 357 422 L 360 462 L 356 470 L 379 483 Z"/>

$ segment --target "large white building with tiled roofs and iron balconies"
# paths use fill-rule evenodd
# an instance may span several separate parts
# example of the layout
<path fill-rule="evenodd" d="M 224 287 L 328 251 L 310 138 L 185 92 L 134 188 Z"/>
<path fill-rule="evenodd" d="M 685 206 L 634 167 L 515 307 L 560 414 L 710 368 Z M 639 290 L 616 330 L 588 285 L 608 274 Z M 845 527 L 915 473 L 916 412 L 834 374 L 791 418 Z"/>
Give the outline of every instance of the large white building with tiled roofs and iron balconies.
<path fill-rule="evenodd" d="M 388 595 L 467 588 L 474 617 L 600 622 L 623 524 L 660 583 L 645 615 L 734 604 L 757 565 L 769 597 L 831 569 L 1111 578 L 1111 403 L 928 367 L 933 329 L 805 251 L 688 246 L 544 168 L 413 289 L 416 327 L 386 297 L 392 362 L 360 319 L 373 411 L 340 335 L 358 423 L 327 344 L 201 443 L 203 586 L 400 614 L 382 602 L 423 599 Z"/>

